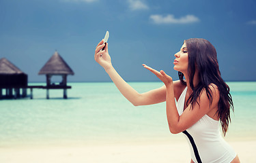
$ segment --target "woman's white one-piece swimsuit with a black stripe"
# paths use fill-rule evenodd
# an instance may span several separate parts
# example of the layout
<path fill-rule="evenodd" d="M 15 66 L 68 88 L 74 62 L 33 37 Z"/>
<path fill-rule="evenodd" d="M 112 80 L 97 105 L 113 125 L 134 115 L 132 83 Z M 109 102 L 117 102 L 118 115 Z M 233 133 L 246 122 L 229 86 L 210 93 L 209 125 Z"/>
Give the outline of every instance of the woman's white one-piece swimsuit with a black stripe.
<path fill-rule="evenodd" d="M 186 87 L 177 101 L 177 111 L 182 115 L 186 96 Z M 220 124 L 208 115 L 204 115 L 198 122 L 184 130 L 190 147 L 193 162 L 222 162 L 230 163 L 236 158 L 236 152 L 221 136 Z"/>

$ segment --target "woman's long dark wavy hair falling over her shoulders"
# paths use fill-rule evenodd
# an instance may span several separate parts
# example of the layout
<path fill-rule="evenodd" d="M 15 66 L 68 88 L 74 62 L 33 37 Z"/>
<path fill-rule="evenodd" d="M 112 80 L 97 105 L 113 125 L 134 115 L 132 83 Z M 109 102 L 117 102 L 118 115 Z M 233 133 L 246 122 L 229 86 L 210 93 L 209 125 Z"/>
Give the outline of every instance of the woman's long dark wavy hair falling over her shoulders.
<path fill-rule="evenodd" d="M 188 49 L 189 84 L 193 90 L 193 93 L 190 94 L 186 105 L 191 103 L 191 108 L 193 108 L 195 103 L 199 104 L 197 98 L 199 98 L 202 90 L 206 91 L 210 105 L 212 105 L 212 92 L 209 86 L 211 84 L 215 84 L 220 93 L 218 111 L 216 113 L 221 120 L 221 126 L 225 136 L 229 122 L 231 122 L 230 109 L 232 109 L 232 111 L 234 111 L 234 109 L 232 97 L 229 93 L 229 86 L 227 86 L 222 79 L 221 72 L 218 68 L 216 50 L 214 46 L 212 46 L 212 43 L 205 39 L 186 39 L 185 42 Z M 194 86 L 193 78 L 196 68 L 199 71 L 199 84 Z M 184 81 L 184 74 L 178 72 L 178 75 L 182 84 L 186 85 L 186 82 Z"/>

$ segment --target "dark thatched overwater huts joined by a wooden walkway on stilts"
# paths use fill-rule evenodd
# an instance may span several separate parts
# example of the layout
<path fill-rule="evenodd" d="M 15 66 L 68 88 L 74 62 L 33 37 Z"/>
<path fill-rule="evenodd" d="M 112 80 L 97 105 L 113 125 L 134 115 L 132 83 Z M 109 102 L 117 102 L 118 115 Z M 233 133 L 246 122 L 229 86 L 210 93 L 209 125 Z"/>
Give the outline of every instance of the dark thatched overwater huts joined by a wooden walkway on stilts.
<path fill-rule="evenodd" d="M 46 64 L 39 71 L 38 75 L 46 75 L 46 86 L 28 86 L 28 77 L 26 73 L 20 71 L 18 67 L 12 64 L 6 58 L 0 59 L 0 99 L 1 98 L 24 98 L 27 96 L 27 89 L 30 89 L 30 98 L 33 99 L 33 89 L 46 90 L 46 98 L 50 98 L 50 90 L 63 90 L 63 98 L 68 98 L 67 76 L 74 75 L 72 69 L 63 60 L 63 58 L 56 51 L 53 56 L 46 62 Z M 58 84 L 52 83 L 51 78 L 54 76 L 61 76 L 62 81 Z M 3 95 L 5 90 L 5 96 Z M 20 90 L 22 93 L 20 94 Z"/>

